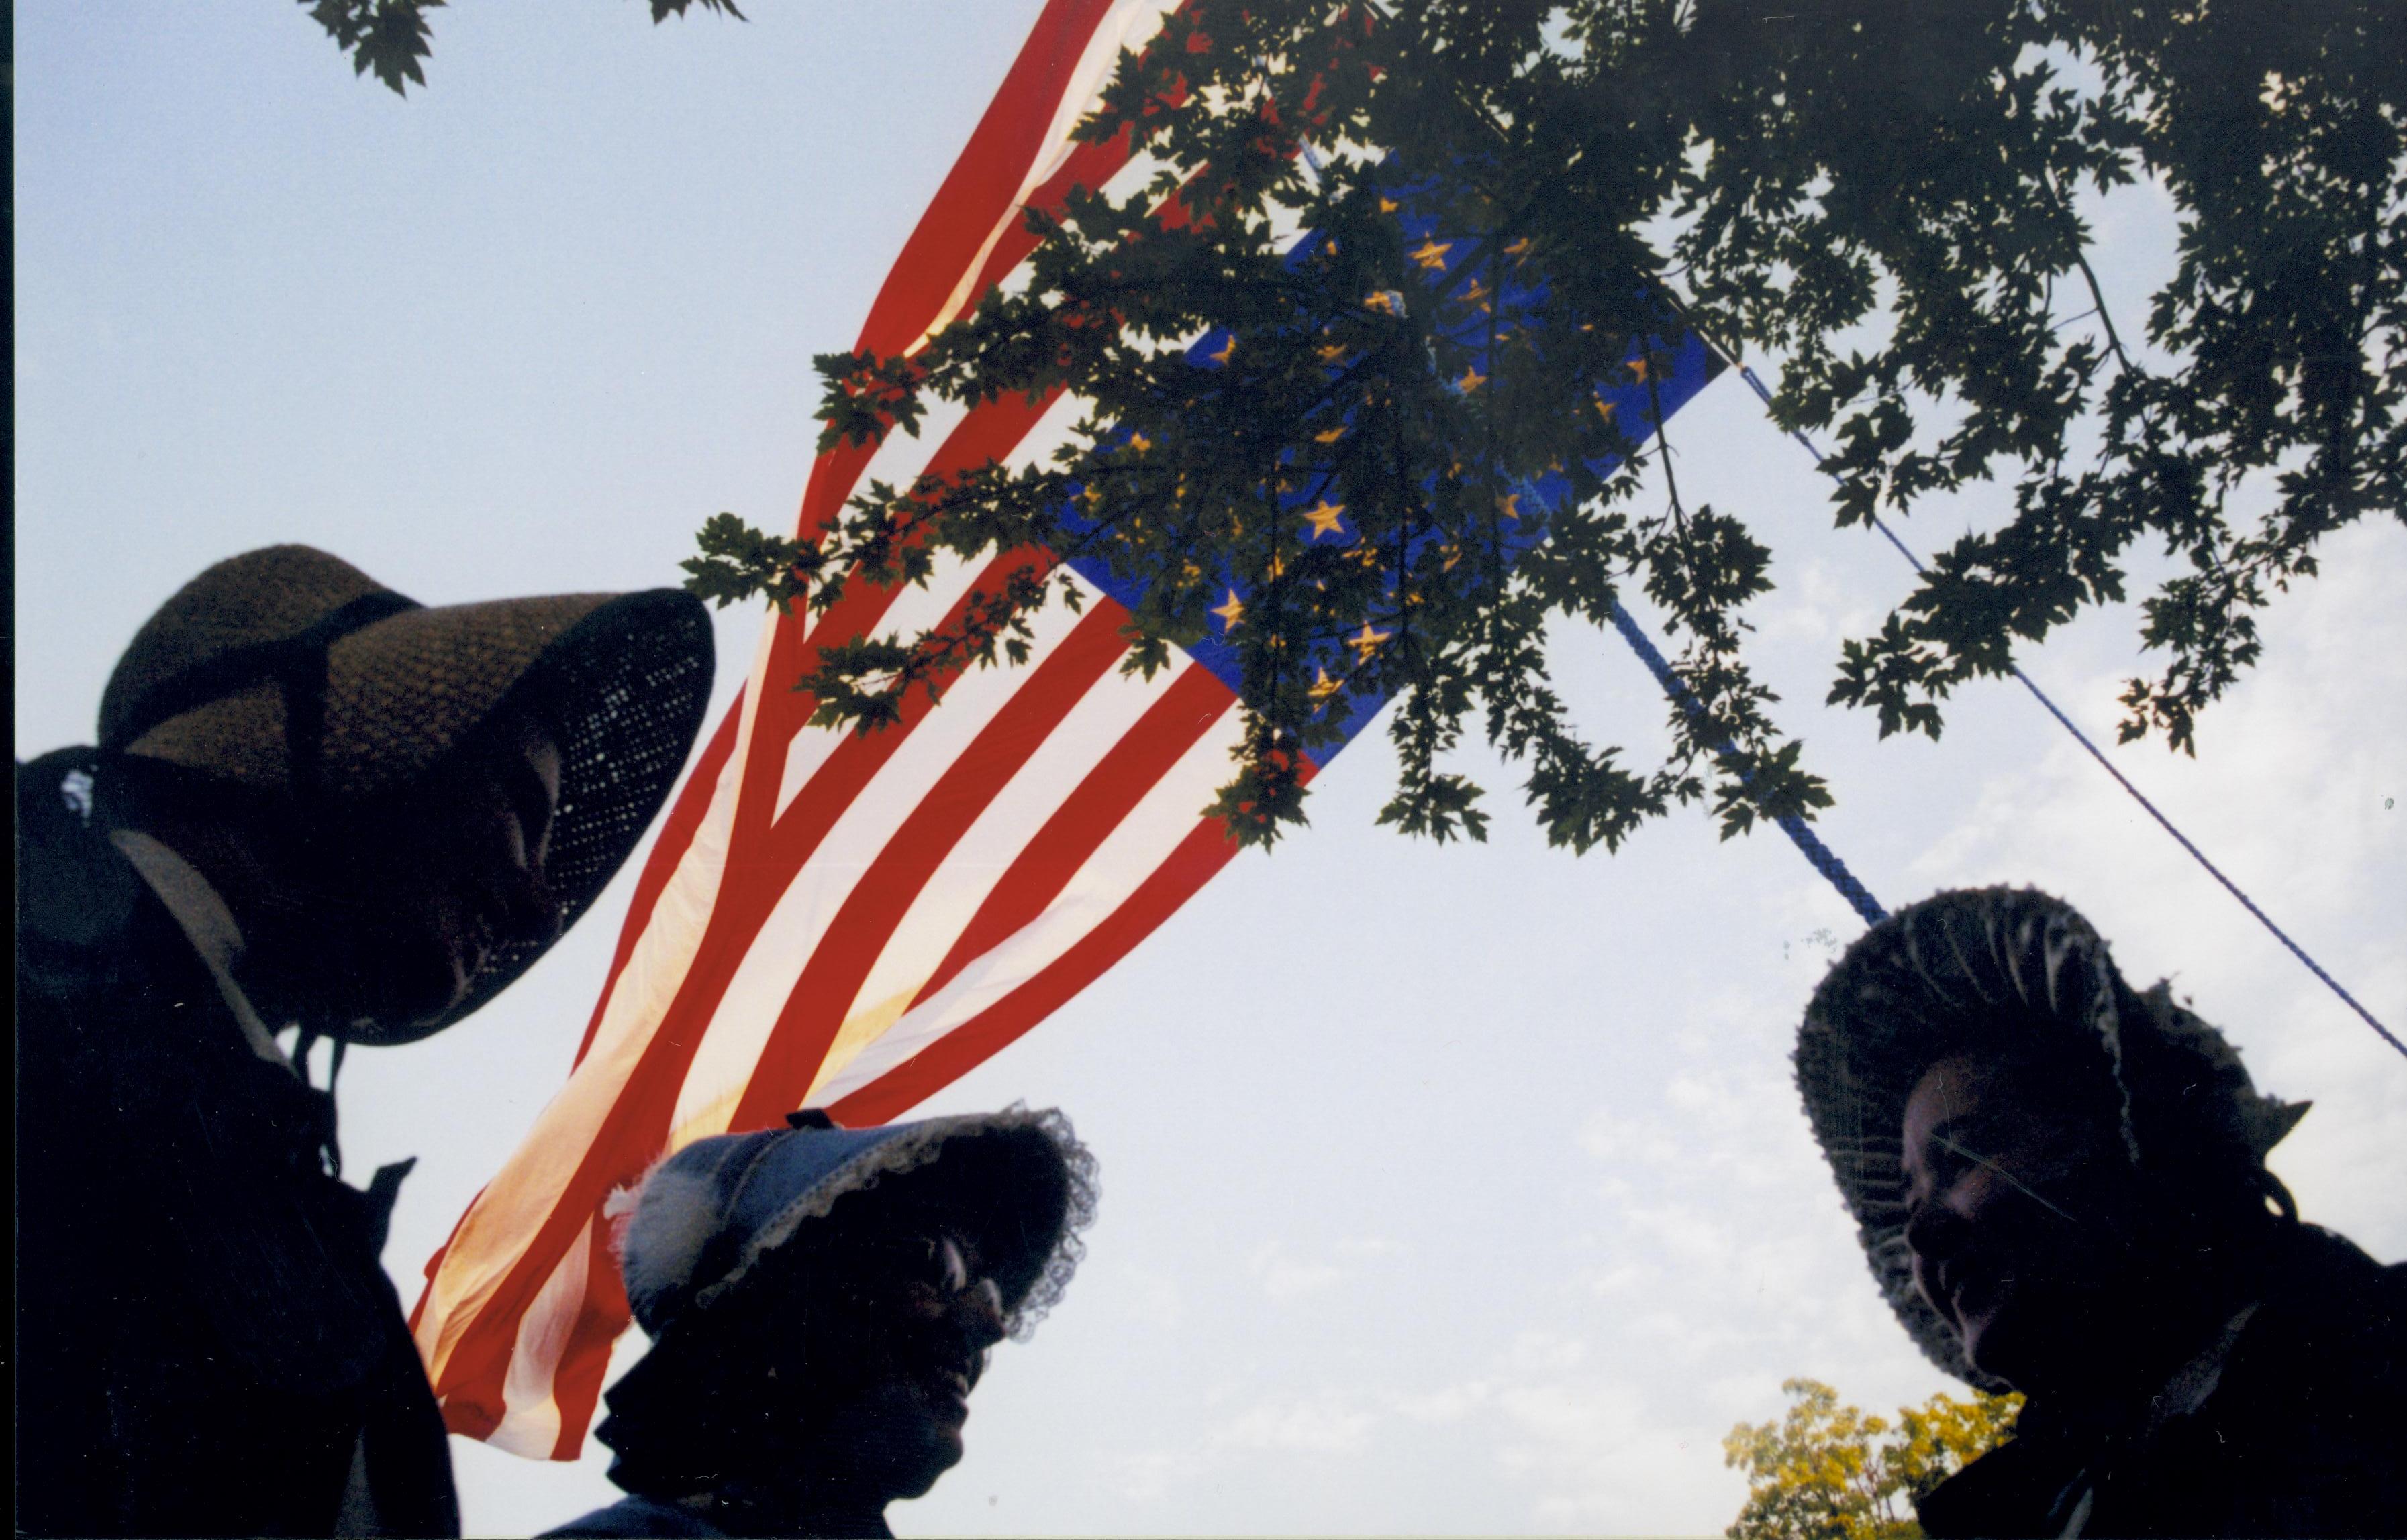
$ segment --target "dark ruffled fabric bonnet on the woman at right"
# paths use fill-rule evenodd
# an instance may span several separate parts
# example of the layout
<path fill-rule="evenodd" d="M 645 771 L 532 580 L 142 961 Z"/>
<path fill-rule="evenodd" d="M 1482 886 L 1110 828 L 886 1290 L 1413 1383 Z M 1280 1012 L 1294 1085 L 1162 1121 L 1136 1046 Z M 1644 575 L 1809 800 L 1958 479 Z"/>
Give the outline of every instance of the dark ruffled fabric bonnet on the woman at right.
<path fill-rule="evenodd" d="M 2130 989 L 2106 941 L 2058 898 L 1940 893 L 1865 931 L 1805 1008 L 1798 1092 L 1889 1309 L 1933 1364 L 1983 1391 L 2007 1386 L 1964 1360 L 1954 1326 L 1914 1287 L 1902 1126 L 1933 1064 L 2012 1044 L 2094 1064 L 2135 1165 L 2260 1165 L 2306 1116 L 2306 1102 L 2260 1095 L 2239 1049 L 2171 989 Z"/>

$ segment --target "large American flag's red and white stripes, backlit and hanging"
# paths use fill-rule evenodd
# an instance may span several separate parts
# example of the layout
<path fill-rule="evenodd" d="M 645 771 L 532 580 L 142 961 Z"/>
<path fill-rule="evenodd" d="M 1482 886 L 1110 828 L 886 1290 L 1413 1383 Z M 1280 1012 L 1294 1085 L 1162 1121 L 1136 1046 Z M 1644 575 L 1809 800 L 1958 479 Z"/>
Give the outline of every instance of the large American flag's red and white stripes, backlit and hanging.
<path fill-rule="evenodd" d="M 1136 185 L 1146 168 L 1124 137 L 1071 130 L 1122 48 L 1175 5 L 1047 2 L 879 291 L 862 349 L 907 351 L 1009 282 L 1035 245 L 1023 209 L 1059 209 L 1074 185 Z M 1408 231 L 1442 245 L 1411 217 Z M 1704 380 L 1687 344 L 1654 395 L 1615 399 L 1620 421 L 1646 421 L 1651 399 L 1668 411 Z M 1023 464 L 1071 421 L 1069 399 L 1006 397 L 932 411 L 876 450 L 830 450 L 799 529 L 823 529 L 871 476 L 907 486 Z M 847 1126 L 903 1114 L 1045 1020 L 1235 854 L 1199 813 L 1235 770 L 1235 654 L 1206 642 L 1153 679 L 1122 674 L 1131 594 L 1100 565 L 1071 563 L 1090 602 L 1045 609 L 1023 667 L 963 674 L 941 707 L 915 695 L 867 736 L 806 724 L 814 703 L 789 686 L 823 642 L 912 635 L 1035 561 L 953 561 L 927 587 L 852 587 L 823 616 L 770 623 L 662 823 L 568 1083 L 426 1263 L 412 1328 L 453 1432 L 578 1456 L 628 1326 L 611 1227 L 655 1160 L 797 1107 Z M 1232 590 L 1223 630 L 1240 621 Z M 1358 700 L 1348 729 L 1374 710 Z"/>

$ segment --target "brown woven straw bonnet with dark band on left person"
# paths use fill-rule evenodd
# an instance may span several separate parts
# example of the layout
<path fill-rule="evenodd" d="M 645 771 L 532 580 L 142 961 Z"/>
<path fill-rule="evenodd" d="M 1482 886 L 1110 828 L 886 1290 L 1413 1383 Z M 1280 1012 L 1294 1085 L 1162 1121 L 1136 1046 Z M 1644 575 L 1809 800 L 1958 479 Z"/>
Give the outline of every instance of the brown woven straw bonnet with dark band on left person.
<path fill-rule="evenodd" d="M 527 707 L 561 748 L 544 878 L 566 931 L 669 794 L 710 676 L 708 609 L 679 590 L 428 609 L 325 551 L 267 546 L 217 563 L 142 623 L 101 695 L 101 753 L 339 801 L 404 787 L 503 705 Z M 342 1035 L 438 1032 L 549 946 L 493 948 L 438 1020 Z"/>

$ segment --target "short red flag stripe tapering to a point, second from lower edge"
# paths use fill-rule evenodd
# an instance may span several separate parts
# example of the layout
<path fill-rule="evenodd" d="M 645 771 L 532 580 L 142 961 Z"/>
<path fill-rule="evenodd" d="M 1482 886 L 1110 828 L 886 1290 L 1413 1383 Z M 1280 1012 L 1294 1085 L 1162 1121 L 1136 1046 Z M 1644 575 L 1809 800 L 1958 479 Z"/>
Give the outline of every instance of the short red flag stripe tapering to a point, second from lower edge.
<path fill-rule="evenodd" d="M 1126 614 L 1117 602 L 1105 602 Z M 1100 604 L 1098 604 L 1100 609 Z M 1237 698 L 1208 669 L 1194 667 L 1170 681 L 1163 698 L 1086 772 L 1045 828 L 1004 871 L 987 902 L 977 907 L 960 941 L 919 987 L 919 1003 L 953 982 L 975 958 L 987 955 L 1023 924 L 1045 912 L 1086 859 L 1119 828 L 1122 818 L 1170 772 L 1196 739 L 1220 719 Z"/>

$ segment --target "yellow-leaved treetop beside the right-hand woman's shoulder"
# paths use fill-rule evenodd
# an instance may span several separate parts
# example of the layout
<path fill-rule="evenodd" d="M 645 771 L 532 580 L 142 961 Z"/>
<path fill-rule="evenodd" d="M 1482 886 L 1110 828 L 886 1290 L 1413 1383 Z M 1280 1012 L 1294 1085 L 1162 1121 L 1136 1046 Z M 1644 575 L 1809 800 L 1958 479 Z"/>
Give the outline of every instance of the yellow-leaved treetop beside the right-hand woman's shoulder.
<path fill-rule="evenodd" d="M 1933 1396 L 1897 1422 L 1839 1405 L 1812 1379 L 1781 1384 L 1788 1415 L 1740 1422 L 1723 1463 L 1747 1473 L 1747 1506 L 1731 1540 L 1911 1540 L 1914 1504 L 2005 1441 L 2022 1396 Z"/>

